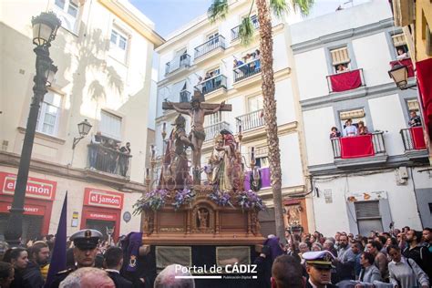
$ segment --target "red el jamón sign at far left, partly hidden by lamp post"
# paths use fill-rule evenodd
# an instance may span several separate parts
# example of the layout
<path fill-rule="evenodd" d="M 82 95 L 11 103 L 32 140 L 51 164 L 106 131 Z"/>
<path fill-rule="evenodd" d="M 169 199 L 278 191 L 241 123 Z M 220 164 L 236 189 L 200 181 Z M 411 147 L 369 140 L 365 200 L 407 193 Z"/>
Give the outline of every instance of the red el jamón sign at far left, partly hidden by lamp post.
<path fill-rule="evenodd" d="M 16 175 L 0 172 L 0 194 L 13 196 L 15 193 Z M 57 182 L 29 177 L 26 197 L 54 201 Z"/>

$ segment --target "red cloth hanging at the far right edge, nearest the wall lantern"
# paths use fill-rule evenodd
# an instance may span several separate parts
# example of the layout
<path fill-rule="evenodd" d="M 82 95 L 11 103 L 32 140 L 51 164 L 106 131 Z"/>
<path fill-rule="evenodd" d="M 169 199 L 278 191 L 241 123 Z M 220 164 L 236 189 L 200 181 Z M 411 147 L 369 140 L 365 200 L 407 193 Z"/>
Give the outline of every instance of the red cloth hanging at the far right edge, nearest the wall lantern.
<path fill-rule="evenodd" d="M 423 104 L 423 118 L 427 133 L 432 134 L 432 58 L 416 63 L 417 82 Z"/>

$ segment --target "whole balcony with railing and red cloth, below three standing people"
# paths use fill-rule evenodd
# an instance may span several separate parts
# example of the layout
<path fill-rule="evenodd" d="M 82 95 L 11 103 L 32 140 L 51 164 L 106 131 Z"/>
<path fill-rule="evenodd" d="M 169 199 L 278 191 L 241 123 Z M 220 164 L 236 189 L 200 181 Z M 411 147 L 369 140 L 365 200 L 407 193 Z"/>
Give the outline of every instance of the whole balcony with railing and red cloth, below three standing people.
<path fill-rule="evenodd" d="M 386 162 L 384 132 L 374 132 L 355 137 L 330 139 L 334 154 L 334 164 L 337 167 Z"/>

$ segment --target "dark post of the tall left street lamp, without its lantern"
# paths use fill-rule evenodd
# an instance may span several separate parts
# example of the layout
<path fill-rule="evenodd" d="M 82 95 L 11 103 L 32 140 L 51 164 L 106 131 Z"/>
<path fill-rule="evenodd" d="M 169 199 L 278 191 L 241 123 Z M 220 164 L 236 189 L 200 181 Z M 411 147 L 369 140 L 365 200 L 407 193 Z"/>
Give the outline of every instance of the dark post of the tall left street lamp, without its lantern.
<path fill-rule="evenodd" d="M 36 122 L 39 115 L 40 102 L 43 100 L 46 90 L 46 70 L 52 64 L 47 47 L 38 46 L 35 48 L 36 53 L 36 76 L 34 77 L 35 86 L 33 87 L 34 96 L 26 124 L 26 135 L 24 137 L 23 149 L 19 160 L 18 175 L 16 177 L 16 186 L 14 201 L 10 210 L 10 216 L 7 221 L 5 230 L 5 241 L 11 246 L 20 244 L 19 238 L 22 234 L 24 201 L 26 198 L 26 186 L 28 170 L 35 140 Z"/>

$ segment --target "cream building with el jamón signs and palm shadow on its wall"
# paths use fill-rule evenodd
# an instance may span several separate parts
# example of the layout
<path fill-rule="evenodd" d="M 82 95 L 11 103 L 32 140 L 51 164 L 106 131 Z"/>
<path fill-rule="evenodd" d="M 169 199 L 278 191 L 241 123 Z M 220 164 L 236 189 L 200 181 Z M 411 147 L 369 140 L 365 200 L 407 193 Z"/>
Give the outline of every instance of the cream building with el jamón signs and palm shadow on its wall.
<path fill-rule="evenodd" d="M 33 95 L 32 16 L 53 11 L 62 21 L 50 47 L 58 67 L 37 120 L 26 190 L 23 239 L 55 233 L 67 192 L 67 234 L 83 228 L 113 236 L 140 230 L 133 207 L 145 189 L 147 111 L 154 24 L 123 0 L 2 2 L 0 66 L 0 234 L 5 230 L 26 118 Z M 79 138 L 84 119 L 90 133 Z M 92 137 L 99 145 L 91 144 Z M 130 142 L 129 155 L 116 147 Z M 93 157 L 90 158 L 90 155 Z"/>

